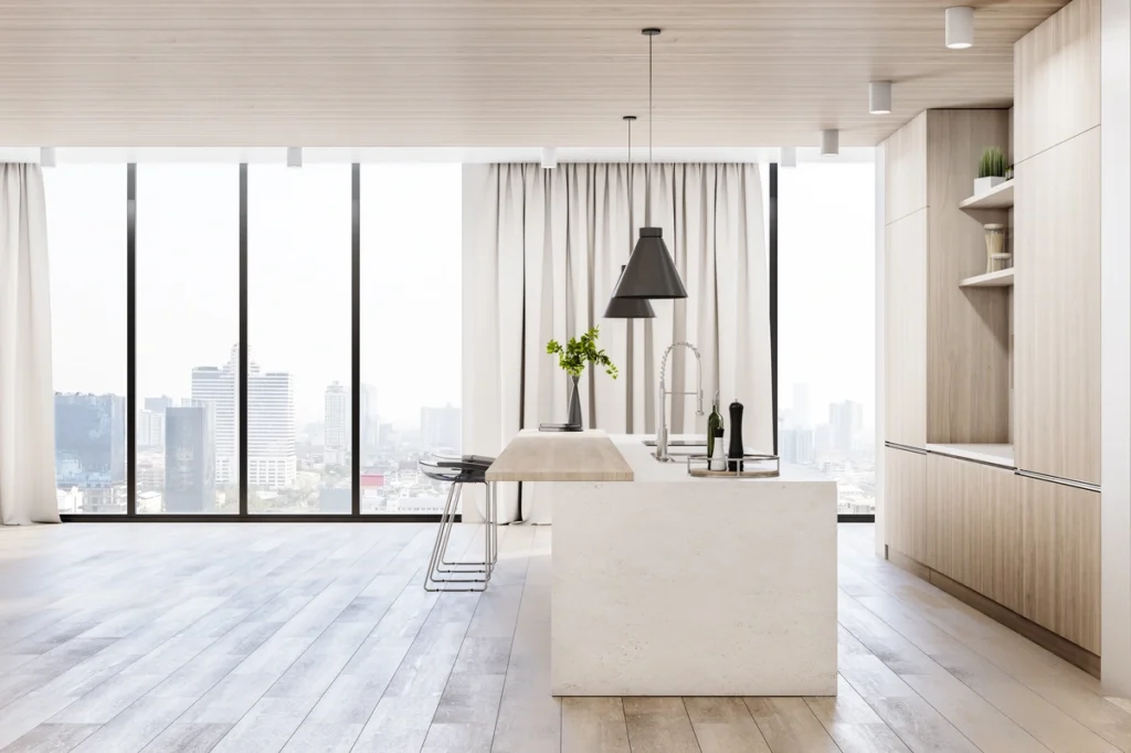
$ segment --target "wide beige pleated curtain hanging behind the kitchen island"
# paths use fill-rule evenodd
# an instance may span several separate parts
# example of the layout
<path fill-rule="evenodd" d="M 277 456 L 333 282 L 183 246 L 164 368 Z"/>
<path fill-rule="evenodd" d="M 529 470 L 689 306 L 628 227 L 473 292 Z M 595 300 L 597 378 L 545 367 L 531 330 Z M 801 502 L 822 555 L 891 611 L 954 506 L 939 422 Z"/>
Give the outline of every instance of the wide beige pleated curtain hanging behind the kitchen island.
<path fill-rule="evenodd" d="M 532 164 L 464 167 L 464 448 L 495 455 L 520 429 L 562 422 L 567 378 L 546 355 L 562 340 L 601 328 L 621 370 L 588 369 L 581 380 L 586 426 L 654 433 L 659 361 L 672 343 L 702 354 L 703 406 L 719 391 L 725 412 L 746 406 L 746 444 L 772 444 L 768 266 L 762 188 L 754 164 L 650 167 L 651 224 L 662 227 L 689 297 L 654 301 L 656 319 L 603 319 L 621 265 L 645 223 L 646 165 Z M 629 340 L 632 340 L 631 347 Z M 629 358 L 631 350 L 631 360 Z M 696 363 L 673 353 L 671 389 L 696 387 Z M 693 397 L 672 398 L 670 431 L 706 433 Z M 504 518 L 515 513 L 503 494 Z M 526 510 L 524 497 L 524 517 Z M 474 518 L 467 510 L 465 516 Z"/>

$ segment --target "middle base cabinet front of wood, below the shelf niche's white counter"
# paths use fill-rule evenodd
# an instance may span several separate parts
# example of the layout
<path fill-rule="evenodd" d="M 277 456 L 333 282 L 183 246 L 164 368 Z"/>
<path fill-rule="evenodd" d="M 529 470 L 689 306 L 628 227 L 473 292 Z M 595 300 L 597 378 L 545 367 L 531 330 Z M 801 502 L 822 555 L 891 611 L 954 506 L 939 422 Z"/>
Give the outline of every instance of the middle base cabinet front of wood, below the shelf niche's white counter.
<path fill-rule="evenodd" d="M 1013 471 L 927 456 L 927 538 L 942 574 L 1021 611 L 1021 505 Z"/>

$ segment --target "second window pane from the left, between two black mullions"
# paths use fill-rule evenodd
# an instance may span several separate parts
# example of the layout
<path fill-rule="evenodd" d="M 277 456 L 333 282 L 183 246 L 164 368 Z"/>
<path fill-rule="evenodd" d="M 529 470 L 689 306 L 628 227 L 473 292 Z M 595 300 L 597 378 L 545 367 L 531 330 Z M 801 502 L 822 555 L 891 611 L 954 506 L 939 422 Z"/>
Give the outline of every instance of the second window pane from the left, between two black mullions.
<path fill-rule="evenodd" d="M 136 175 L 137 512 L 235 513 L 239 165 Z"/>

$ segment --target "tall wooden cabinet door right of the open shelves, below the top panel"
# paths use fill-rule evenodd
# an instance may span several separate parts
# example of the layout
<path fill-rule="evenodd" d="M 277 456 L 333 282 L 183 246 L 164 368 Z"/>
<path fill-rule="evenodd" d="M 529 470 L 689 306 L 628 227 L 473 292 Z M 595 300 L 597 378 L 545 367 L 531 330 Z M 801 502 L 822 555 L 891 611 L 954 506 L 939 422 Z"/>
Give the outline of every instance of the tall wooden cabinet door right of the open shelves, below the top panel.
<path fill-rule="evenodd" d="M 1017 165 L 1019 468 L 1099 484 L 1099 129 Z"/>

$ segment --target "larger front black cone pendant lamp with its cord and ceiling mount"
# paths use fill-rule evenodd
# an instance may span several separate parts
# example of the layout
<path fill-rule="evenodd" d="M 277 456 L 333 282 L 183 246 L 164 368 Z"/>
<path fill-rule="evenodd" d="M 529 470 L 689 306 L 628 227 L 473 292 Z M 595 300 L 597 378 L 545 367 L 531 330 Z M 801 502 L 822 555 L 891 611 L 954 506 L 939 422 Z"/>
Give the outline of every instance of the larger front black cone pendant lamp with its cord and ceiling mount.
<path fill-rule="evenodd" d="M 646 28 L 641 32 L 648 37 L 648 168 L 645 173 L 645 226 L 640 228 L 640 240 L 637 241 L 628 267 L 621 275 L 613 296 L 618 298 L 685 298 L 688 289 L 683 287 L 680 272 L 675 269 L 672 254 L 664 243 L 664 231 L 651 227 L 651 38 L 659 34 L 658 28 Z"/>

